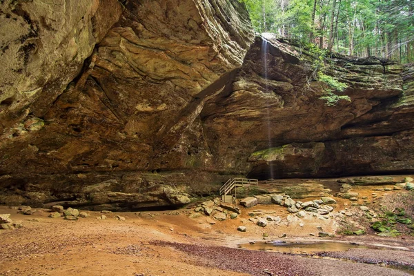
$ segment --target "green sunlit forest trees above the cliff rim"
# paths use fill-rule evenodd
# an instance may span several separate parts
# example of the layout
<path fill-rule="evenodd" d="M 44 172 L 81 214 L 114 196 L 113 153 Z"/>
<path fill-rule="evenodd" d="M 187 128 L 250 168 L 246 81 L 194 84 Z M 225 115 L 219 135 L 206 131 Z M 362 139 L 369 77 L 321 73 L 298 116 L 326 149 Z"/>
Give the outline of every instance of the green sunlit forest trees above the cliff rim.
<path fill-rule="evenodd" d="M 414 61 L 414 0 L 239 0 L 257 32 L 356 57 Z"/>

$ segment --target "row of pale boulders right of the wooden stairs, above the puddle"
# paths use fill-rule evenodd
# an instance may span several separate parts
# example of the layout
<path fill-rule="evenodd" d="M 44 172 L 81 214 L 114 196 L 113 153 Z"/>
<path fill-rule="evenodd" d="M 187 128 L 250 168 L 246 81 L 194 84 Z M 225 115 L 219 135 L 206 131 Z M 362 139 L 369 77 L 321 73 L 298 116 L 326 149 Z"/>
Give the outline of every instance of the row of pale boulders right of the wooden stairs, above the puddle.
<path fill-rule="evenodd" d="M 240 204 L 246 208 L 253 207 L 257 204 L 277 204 L 285 206 L 289 213 L 298 213 L 299 210 L 305 210 L 319 215 L 327 215 L 333 211 L 332 206 L 328 204 L 336 204 L 337 201 L 332 197 L 321 197 L 313 201 L 295 201 L 289 195 L 259 195 L 256 197 L 246 197 L 240 201 Z"/>

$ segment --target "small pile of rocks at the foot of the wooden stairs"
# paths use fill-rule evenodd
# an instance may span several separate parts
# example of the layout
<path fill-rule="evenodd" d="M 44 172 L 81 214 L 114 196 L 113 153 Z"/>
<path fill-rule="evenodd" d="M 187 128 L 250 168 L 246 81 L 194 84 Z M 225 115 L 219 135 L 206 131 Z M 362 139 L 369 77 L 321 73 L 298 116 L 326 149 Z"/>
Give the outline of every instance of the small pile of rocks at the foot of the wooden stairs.
<path fill-rule="evenodd" d="M 218 221 L 224 221 L 228 216 L 230 216 L 230 219 L 235 219 L 241 213 L 242 211 L 238 207 L 222 204 L 219 198 L 215 198 L 198 204 L 197 208 L 195 208 L 195 213 L 191 214 L 190 218 L 195 219 L 204 214 Z"/>

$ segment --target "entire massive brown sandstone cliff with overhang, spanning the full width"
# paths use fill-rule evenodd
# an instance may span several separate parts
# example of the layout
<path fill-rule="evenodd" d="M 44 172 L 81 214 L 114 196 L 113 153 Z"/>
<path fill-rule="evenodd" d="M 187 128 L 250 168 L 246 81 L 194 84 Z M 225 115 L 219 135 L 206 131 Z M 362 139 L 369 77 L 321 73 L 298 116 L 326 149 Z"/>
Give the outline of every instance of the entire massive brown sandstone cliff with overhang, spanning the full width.
<path fill-rule="evenodd" d="M 0 5 L 0 204 L 146 208 L 233 175 L 414 172 L 410 66 L 330 57 L 351 101 L 329 106 L 315 55 L 254 40 L 237 1 Z"/>

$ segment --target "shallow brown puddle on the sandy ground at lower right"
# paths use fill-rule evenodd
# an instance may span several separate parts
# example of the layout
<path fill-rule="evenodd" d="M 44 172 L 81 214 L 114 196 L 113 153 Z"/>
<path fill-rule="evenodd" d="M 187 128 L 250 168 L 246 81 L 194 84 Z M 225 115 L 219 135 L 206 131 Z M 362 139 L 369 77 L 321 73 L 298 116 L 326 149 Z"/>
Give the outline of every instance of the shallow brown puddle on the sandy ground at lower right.
<path fill-rule="evenodd" d="M 344 242 L 256 242 L 255 244 L 239 244 L 239 248 L 249 250 L 273 251 L 291 254 L 312 254 L 323 251 L 346 251 L 351 248 L 373 248 L 355 243 Z"/>

